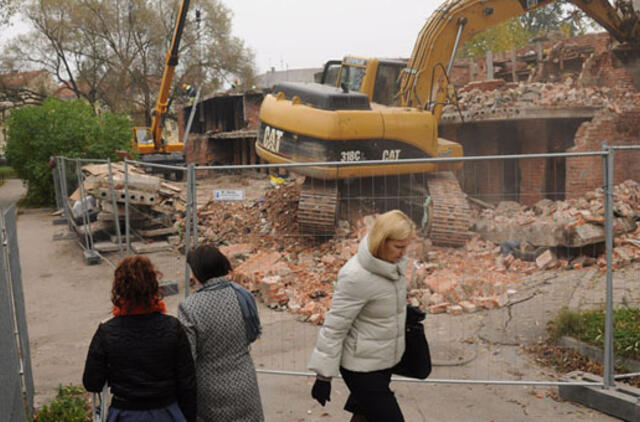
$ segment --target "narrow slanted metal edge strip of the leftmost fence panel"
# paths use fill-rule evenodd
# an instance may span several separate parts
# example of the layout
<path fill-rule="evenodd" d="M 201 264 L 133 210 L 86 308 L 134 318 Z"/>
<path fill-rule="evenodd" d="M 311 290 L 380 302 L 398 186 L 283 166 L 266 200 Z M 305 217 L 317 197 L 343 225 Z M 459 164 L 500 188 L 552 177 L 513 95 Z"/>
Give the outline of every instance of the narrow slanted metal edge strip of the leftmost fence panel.
<path fill-rule="evenodd" d="M 22 369 L 24 383 L 27 392 L 29 419 L 33 413 L 33 372 L 31 369 L 31 349 L 29 348 L 29 330 L 27 329 L 27 311 L 24 304 L 24 292 L 22 289 L 22 271 L 20 267 L 20 252 L 18 248 L 18 227 L 16 224 L 15 205 L 5 213 L 5 230 L 9 243 L 9 269 L 11 271 L 11 287 L 13 288 L 13 303 L 15 309 L 16 325 L 20 334 L 20 352 L 22 356 Z"/>

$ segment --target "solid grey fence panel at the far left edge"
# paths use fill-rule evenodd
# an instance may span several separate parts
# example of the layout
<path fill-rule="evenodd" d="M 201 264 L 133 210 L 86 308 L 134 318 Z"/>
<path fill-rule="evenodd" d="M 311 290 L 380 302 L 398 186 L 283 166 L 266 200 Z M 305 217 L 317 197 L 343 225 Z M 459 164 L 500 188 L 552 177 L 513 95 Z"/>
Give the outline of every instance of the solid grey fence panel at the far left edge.
<path fill-rule="evenodd" d="M 0 215 L 0 233 L 4 233 L 4 214 Z M 13 215 L 15 218 L 15 209 Z M 7 260 L 10 247 L 11 243 L 5 236 L 0 236 L 0 415 L 7 422 L 24 422 L 26 415 L 9 284 L 11 272 Z"/>

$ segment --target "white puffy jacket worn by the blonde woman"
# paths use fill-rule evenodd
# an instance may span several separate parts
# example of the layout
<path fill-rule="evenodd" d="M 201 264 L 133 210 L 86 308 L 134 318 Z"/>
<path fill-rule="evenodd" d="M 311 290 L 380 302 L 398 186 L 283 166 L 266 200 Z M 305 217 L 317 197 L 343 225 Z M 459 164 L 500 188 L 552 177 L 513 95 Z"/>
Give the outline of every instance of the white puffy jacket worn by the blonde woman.
<path fill-rule="evenodd" d="M 394 366 L 404 353 L 407 259 L 393 264 L 369 252 L 366 236 L 338 273 L 309 369 L 324 377 L 338 368 L 370 372 Z"/>

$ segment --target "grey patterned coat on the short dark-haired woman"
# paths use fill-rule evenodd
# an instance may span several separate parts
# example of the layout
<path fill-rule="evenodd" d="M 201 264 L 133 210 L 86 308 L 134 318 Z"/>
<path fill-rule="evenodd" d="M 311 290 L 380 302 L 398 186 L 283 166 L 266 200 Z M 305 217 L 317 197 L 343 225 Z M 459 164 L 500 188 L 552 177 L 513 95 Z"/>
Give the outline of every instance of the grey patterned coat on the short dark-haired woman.
<path fill-rule="evenodd" d="M 256 371 L 244 319 L 231 286 L 214 278 L 178 307 L 196 363 L 198 421 L 262 422 Z"/>

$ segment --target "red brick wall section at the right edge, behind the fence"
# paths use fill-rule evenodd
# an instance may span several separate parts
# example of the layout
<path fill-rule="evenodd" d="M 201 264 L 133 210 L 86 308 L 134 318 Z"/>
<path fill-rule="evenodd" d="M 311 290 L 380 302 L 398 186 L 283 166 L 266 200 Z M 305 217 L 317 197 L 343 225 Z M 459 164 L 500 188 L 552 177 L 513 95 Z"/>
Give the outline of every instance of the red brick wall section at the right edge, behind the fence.
<path fill-rule="evenodd" d="M 599 151 L 608 145 L 640 145 L 640 109 L 621 114 L 603 110 L 590 122 L 584 122 L 570 151 Z M 614 163 L 615 183 L 626 179 L 640 182 L 640 151 L 619 151 Z M 576 198 L 585 191 L 602 186 L 602 158 L 567 158 L 567 198 Z"/>

